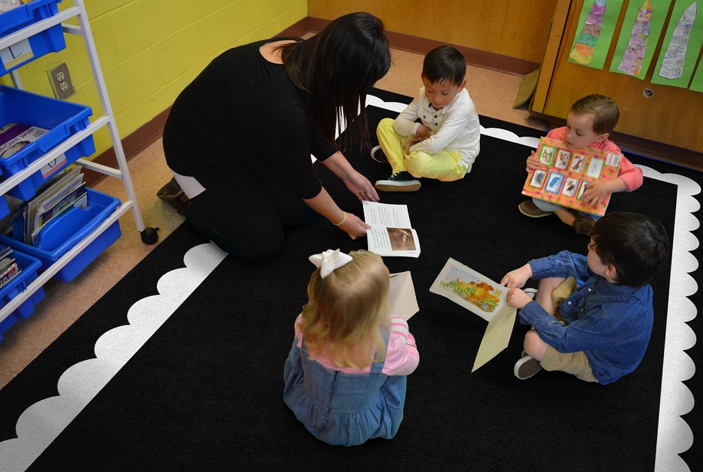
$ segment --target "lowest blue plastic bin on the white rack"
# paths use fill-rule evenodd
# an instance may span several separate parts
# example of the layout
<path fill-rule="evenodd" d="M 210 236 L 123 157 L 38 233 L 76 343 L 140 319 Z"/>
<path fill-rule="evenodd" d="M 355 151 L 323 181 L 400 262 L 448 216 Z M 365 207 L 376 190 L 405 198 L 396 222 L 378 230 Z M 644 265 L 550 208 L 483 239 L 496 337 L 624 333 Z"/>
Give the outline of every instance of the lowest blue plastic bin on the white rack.
<path fill-rule="evenodd" d="M 34 279 L 37 279 L 37 270 L 41 267 L 41 262 L 39 262 L 38 259 L 18 253 L 16 250 L 13 250 L 11 257 L 15 258 L 22 272 L 0 288 L 0 307 L 4 307 L 13 298 L 25 291 L 27 286 L 32 283 Z M 2 333 L 15 324 L 15 321 L 22 318 L 29 318 L 30 315 L 34 313 L 34 306 L 43 298 L 44 288 L 39 288 L 39 290 L 30 295 L 30 298 L 27 298 L 15 311 L 9 314 L 6 319 L 0 321 L 0 340 L 2 340 Z"/>

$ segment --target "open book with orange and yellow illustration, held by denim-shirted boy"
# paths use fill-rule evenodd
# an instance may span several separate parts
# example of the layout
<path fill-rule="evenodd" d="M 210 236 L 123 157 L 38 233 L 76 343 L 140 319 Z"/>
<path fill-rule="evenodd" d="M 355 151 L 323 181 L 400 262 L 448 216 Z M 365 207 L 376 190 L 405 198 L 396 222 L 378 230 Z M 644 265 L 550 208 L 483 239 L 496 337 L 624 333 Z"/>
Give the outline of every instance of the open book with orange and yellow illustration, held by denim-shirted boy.
<path fill-rule="evenodd" d="M 505 302 L 507 287 L 450 257 L 430 292 L 449 298 L 488 321 L 472 372 L 508 347 L 517 310 Z"/>

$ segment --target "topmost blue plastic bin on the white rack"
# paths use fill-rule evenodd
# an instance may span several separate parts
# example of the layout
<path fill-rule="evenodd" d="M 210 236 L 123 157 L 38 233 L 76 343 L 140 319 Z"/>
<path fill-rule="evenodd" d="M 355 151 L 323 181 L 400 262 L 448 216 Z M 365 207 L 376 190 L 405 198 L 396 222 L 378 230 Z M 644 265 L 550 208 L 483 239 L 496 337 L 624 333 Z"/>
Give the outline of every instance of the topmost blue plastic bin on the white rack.
<path fill-rule="evenodd" d="M 0 37 L 28 27 L 58 13 L 61 0 L 32 0 L 29 3 L 0 13 Z M 27 48 L 27 46 L 29 46 Z M 0 54 L 0 75 L 5 75 L 22 65 L 44 56 L 46 53 L 61 51 L 66 47 L 61 25 L 54 25 L 26 41 L 10 46 Z"/>

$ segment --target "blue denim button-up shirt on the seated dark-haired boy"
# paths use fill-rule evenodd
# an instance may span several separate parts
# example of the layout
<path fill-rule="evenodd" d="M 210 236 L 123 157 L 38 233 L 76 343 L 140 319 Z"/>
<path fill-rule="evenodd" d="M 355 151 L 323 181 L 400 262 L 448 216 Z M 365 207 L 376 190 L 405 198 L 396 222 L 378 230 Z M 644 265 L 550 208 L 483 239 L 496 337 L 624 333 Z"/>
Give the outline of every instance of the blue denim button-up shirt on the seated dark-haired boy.
<path fill-rule="evenodd" d="M 588 269 L 585 255 L 562 251 L 531 260 L 535 279 L 575 276 L 585 281 L 562 302 L 564 326 L 532 301 L 520 310 L 520 321 L 559 352 L 583 351 L 602 384 L 635 370 L 647 350 L 654 323 L 652 288 L 619 286 Z"/>

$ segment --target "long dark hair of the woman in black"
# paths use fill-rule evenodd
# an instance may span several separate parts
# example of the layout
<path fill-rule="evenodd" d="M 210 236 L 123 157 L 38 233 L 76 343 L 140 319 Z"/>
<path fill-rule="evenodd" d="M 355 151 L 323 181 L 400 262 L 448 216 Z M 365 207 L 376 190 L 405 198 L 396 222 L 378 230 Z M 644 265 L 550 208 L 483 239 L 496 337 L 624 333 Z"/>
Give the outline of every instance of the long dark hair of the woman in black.
<path fill-rule="evenodd" d="M 308 92 L 310 115 L 332 142 L 335 132 L 347 127 L 345 145 L 359 139 L 369 146 L 366 94 L 391 65 L 383 31 L 381 20 L 370 13 L 349 13 L 310 39 L 281 47 L 288 77 Z"/>

